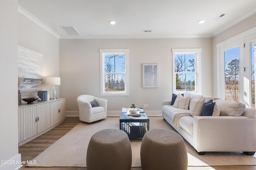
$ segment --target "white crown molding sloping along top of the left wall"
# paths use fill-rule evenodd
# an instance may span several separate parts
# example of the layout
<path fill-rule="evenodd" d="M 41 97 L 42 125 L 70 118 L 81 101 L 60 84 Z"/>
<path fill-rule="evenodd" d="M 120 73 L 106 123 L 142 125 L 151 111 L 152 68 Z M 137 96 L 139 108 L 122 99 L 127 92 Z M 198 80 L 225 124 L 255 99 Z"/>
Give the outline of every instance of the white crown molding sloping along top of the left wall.
<path fill-rule="evenodd" d="M 54 35 L 55 37 L 57 37 L 58 39 L 60 39 L 60 35 L 58 33 L 56 33 L 54 30 L 52 30 L 50 27 L 48 27 L 45 23 L 43 23 L 42 21 L 38 20 L 38 18 L 36 18 L 35 16 L 33 16 L 30 12 L 28 12 L 27 10 L 25 10 L 24 8 L 22 8 L 20 5 L 18 5 L 18 12 L 20 12 L 20 14 L 23 14 L 24 16 L 26 16 L 28 19 L 32 20 L 34 23 L 38 24 L 40 27 L 42 27 L 43 29 L 45 29 L 46 31 L 48 31 L 49 33 L 51 33 L 52 35 Z"/>

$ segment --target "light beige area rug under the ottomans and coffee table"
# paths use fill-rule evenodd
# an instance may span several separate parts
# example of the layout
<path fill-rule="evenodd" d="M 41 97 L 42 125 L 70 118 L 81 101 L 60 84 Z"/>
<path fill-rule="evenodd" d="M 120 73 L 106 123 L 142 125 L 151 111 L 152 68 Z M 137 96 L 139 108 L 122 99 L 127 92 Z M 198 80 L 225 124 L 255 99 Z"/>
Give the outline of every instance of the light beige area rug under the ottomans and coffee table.
<path fill-rule="evenodd" d="M 150 129 L 174 130 L 162 117 L 149 117 Z M 119 129 L 119 117 L 107 117 L 98 123 L 79 123 L 34 160 L 41 167 L 86 167 L 86 152 L 92 135 L 103 129 Z M 174 130 L 175 131 L 175 130 Z M 140 167 L 141 139 L 131 139 L 132 167 Z M 206 152 L 198 155 L 187 142 L 188 166 L 256 165 L 256 158 L 242 152 Z M 33 162 L 33 161 L 32 161 Z"/>

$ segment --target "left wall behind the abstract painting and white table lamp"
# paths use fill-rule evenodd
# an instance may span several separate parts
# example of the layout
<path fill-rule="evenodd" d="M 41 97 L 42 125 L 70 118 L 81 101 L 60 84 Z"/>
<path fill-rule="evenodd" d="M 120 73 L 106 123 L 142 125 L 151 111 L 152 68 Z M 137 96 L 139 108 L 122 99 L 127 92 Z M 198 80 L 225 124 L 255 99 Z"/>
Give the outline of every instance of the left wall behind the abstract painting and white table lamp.
<path fill-rule="evenodd" d="M 46 77 L 59 76 L 59 38 L 18 12 L 18 45 L 42 53 L 43 90 L 49 91 L 52 85 L 46 85 Z M 59 96 L 59 86 L 56 89 Z"/>

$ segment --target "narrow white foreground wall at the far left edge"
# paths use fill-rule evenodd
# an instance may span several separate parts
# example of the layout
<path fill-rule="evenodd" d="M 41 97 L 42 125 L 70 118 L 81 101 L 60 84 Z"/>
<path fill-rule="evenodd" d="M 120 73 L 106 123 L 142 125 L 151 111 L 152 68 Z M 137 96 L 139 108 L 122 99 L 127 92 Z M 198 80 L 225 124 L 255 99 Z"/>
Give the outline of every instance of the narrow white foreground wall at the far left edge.
<path fill-rule="evenodd" d="M 17 62 L 17 0 L 0 1 L 0 170 L 17 169 L 18 154 L 18 62 Z M 6 163 L 6 162 L 5 162 Z"/>

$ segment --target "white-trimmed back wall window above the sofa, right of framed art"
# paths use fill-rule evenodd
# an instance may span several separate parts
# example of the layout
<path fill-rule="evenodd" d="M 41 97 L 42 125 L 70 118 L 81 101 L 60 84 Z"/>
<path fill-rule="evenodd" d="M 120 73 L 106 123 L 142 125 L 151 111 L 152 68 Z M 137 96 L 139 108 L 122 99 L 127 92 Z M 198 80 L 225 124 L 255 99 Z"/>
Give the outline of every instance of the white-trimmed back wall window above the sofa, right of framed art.
<path fill-rule="evenodd" d="M 195 92 L 200 94 L 201 49 L 172 49 L 173 93 Z"/>

